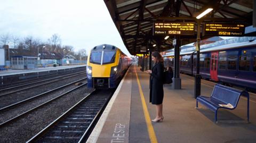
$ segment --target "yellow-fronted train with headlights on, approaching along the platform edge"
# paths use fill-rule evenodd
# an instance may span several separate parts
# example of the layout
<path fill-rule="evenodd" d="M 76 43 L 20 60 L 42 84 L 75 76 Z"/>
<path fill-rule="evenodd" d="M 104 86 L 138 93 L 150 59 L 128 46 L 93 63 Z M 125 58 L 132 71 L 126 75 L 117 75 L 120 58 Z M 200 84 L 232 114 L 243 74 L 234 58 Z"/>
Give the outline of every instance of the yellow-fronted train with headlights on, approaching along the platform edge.
<path fill-rule="evenodd" d="M 87 59 L 87 86 L 115 88 L 132 63 L 119 48 L 113 45 L 95 46 Z"/>

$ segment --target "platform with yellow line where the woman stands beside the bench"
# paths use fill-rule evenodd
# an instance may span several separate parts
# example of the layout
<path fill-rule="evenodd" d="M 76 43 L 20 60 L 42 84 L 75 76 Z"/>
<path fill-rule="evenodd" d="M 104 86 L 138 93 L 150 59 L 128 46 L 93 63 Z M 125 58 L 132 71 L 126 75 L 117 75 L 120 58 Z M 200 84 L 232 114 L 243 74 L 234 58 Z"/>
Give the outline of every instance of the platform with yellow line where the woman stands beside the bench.
<path fill-rule="evenodd" d="M 164 86 L 164 121 L 152 123 L 156 109 L 149 103 L 149 74 L 132 65 L 87 142 L 256 142 L 256 95 L 250 94 L 251 123 L 243 122 L 247 101 L 242 97 L 234 111 L 219 111 L 216 124 L 214 112 L 201 104 L 195 108 L 193 77 L 181 74 L 181 79 L 181 90 Z M 202 95 L 209 96 L 213 86 L 202 80 Z"/>

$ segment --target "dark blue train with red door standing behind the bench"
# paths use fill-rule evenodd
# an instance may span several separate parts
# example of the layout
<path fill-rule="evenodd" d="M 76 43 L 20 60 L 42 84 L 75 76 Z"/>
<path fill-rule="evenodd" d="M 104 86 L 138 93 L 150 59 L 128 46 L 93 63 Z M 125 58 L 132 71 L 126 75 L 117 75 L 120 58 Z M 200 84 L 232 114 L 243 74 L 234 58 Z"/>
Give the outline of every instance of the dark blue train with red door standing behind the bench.
<path fill-rule="evenodd" d="M 202 78 L 256 91 L 256 39 L 204 48 L 200 51 Z M 173 66 L 173 53 L 164 56 L 165 66 Z M 180 53 L 180 72 L 196 74 L 196 53 Z"/>

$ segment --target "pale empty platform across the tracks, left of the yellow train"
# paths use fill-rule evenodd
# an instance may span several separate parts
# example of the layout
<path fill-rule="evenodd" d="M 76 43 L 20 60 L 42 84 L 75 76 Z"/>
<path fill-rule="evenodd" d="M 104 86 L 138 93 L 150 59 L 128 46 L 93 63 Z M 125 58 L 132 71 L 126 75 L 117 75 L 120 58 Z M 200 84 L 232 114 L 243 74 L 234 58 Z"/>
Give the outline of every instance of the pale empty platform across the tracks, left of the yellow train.
<path fill-rule="evenodd" d="M 63 66 L 48 66 L 45 68 L 36 68 L 36 69 L 28 69 L 28 70 L 12 70 L 8 69 L 5 71 L 0 71 L 0 76 L 6 76 L 6 75 L 14 75 L 14 74 L 23 74 L 23 73 L 33 73 L 33 72 L 44 72 L 44 71 L 52 71 L 52 70 L 62 70 L 62 69 L 70 69 L 70 68 L 77 68 L 77 67 L 83 67 L 86 66 L 85 64 L 81 65 L 63 65 Z"/>

